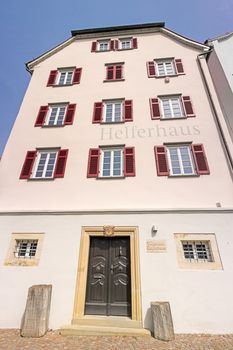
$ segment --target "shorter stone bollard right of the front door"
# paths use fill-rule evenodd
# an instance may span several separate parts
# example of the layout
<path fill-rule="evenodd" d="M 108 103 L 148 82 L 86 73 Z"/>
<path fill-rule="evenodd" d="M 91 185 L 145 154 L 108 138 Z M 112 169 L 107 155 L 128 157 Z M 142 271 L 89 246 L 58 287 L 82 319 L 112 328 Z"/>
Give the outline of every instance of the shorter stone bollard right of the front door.
<path fill-rule="evenodd" d="M 159 340 L 174 339 L 174 329 L 169 302 L 151 302 L 154 338 Z"/>

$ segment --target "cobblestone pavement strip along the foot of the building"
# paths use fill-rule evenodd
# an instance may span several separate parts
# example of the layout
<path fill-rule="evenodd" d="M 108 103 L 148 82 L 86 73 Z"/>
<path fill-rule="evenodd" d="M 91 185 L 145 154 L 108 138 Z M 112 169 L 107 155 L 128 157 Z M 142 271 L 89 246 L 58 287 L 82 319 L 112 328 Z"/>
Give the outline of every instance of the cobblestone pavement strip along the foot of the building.
<path fill-rule="evenodd" d="M 64 337 L 58 331 L 42 338 L 22 338 L 17 329 L 0 330 L 0 350 L 233 350 L 232 335 L 176 335 L 163 342 L 152 337 Z"/>

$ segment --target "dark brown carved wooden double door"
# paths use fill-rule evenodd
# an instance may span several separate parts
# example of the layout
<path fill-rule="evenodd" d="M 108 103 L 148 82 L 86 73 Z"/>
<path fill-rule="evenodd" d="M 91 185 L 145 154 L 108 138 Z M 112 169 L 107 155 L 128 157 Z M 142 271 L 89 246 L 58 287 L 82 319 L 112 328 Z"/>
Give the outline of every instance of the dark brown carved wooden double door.
<path fill-rule="evenodd" d="M 129 237 L 91 237 L 85 314 L 131 316 Z"/>

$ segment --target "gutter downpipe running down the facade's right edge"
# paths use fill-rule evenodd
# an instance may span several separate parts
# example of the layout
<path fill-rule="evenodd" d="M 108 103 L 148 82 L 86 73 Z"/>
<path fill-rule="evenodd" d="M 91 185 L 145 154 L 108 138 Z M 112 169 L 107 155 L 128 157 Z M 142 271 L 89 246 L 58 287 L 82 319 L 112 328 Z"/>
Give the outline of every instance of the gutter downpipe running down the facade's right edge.
<path fill-rule="evenodd" d="M 220 133 L 220 136 L 221 136 L 221 140 L 222 140 L 222 143 L 223 143 L 223 149 L 224 149 L 225 154 L 227 156 L 227 160 L 228 160 L 228 163 L 229 163 L 229 166 L 230 166 L 231 173 L 233 174 L 233 159 L 232 159 L 232 156 L 231 156 L 231 152 L 229 150 L 229 146 L 227 144 L 227 141 L 226 141 L 226 138 L 225 138 L 222 126 L 221 126 L 221 122 L 220 122 L 220 120 L 218 118 L 218 112 L 216 110 L 215 103 L 214 103 L 214 100 L 213 100 L 213 97 L 212 97 L 212 94 L 211 94 L 211 90 L 210 90 L 210 87 L 209 87 L 209 84 L 208 84 L 208 81 L 206 79 L 205 72 L 203 70 L 202 63 L 201 63 L 201 56 L 209 55 L 211 51 L 212 50 L 199 54 L 197 56 L 198 64 L 199 64 L 199 67 L 201 69 L 202 77 L 204 79 L 205 86 L 206 86 L 206 89 L 207 89 L 207 92 L 208 92 L 208 96 L 209 96 L 209 99 L 210 99 L 210 102 L 211 102 L 211 105 L 212 105 L 212 108 L 213 108 L 213 111 L 214 111 L 214 117 L 215 117 L 215 121 L 216 121 L 216 124 L 218 126 L 218 130 L 219 130 L 219 133 Z"/>

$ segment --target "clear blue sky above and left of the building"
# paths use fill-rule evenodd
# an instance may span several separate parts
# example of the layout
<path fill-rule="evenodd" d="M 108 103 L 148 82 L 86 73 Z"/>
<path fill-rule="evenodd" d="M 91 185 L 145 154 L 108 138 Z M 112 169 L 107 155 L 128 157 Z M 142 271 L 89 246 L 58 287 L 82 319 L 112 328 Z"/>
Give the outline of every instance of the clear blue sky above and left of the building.
<path fill-rule="evenodd" d="M 25 63 L 72 29 L 165 22 L 203 42 L 233 31 L 233 0 L 2 0 L 0 10 L 0 155 L 30 80 Z"/>

